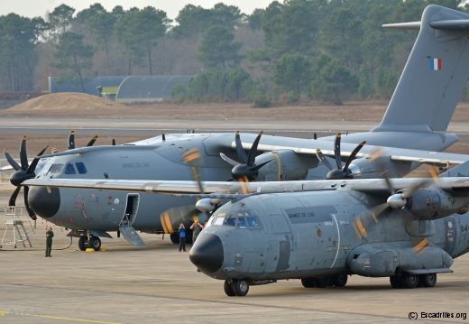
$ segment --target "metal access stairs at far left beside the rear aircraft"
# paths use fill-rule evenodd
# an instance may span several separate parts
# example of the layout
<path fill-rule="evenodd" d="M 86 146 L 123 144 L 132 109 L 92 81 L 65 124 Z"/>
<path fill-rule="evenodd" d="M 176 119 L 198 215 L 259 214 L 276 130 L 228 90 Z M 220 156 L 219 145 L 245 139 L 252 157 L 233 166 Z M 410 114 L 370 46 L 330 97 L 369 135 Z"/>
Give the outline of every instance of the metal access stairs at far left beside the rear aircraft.
<path fill-rule="evenodd" d="M 30 235 L 34 235 L 34 229 L 30 218 L 24 214 L 24 207 L 22 206 L 8 206 L 4 209 L 5 215 L 5 232 L 2 237 L 2 242 L 0 242 L 0 248 L 3 245 L 14 245 L 14 248 L 17 247 L 18 243 L 23 244 L 23 247 L 26 247 L 26 242 L 30 247 L 32 247 Z M 26 227 L 29 225 L 29 230 L 26 230 Z M 7 234 L 11 233 L 11 240 L 8 241 Z"/>

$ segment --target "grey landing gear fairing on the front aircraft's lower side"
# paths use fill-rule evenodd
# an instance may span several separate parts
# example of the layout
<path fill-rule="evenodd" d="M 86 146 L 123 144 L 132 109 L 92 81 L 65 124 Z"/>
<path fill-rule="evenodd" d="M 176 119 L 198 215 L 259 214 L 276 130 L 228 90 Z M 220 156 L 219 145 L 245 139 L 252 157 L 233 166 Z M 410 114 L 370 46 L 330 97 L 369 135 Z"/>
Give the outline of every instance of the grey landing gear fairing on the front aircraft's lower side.
<path fill-rule="evenodd" d="M 361 245 L 347 257 L 347 265 L 352 273 L 366 277 L 387 277 L 397 272 L 425 269 L 447 269 L 453 258 L 437 247 L 391 246 L 390 244 Z"/>

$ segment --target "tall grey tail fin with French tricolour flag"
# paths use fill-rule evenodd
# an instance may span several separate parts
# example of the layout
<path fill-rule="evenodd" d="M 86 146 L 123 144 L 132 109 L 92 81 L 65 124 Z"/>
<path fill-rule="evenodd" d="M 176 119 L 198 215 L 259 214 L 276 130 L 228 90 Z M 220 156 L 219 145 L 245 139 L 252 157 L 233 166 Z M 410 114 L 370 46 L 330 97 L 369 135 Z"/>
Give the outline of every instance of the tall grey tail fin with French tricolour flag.
<path fill-rule="evenodd" d="M 469 77 L 469 14 L 428 5 L 421 22 L 383 27 L 420 32 L 386 114 L 372 131 L 446 131 Z"/>

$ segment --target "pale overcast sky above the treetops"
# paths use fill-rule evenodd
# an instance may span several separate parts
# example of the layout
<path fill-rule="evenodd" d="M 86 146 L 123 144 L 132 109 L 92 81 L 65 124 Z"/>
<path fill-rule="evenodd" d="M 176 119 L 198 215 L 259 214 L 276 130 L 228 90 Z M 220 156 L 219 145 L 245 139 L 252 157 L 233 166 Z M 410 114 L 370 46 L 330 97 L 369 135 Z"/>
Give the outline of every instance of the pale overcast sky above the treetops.
<path fill-rule="evenodd" d="M 124 9 L 136 6 L 143 8 L 152 5 L 157 9 L 166 12 L 170 19 L 174 19 L 179 10 L 185 5 L 201 5 L 204 8 L 212 8 L 215 4 L 223 2 L 225 5 L 236 5 L 244 14 L 251 14 L 255 8 L 265 8 L 273 0 L 1 0 L 0 15 L 19 14 L 26 17 L 41 16 L 46 12 L 51 12 L 55 7 L 65 4 L 77 11 L 89 7 L 89 5 L 100 3 L 107 11 L 112 10 L 115 5 L 122 5 Z"/>

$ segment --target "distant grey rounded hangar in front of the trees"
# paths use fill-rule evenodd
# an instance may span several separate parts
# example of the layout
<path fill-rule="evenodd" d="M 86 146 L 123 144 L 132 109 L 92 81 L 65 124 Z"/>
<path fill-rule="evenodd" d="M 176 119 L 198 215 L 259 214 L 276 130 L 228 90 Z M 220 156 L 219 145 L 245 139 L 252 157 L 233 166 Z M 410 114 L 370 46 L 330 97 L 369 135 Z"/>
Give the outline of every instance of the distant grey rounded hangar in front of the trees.
<path fill-rule="evenodd" d="M 171 98 L 173 88 L 188 87 L 192 75 L 114 76 L 87 79 L 85 93 L 121 103 L 155 102 Z M 49 91 L 82 92 L 81 86 L 49 77 Z"/>

